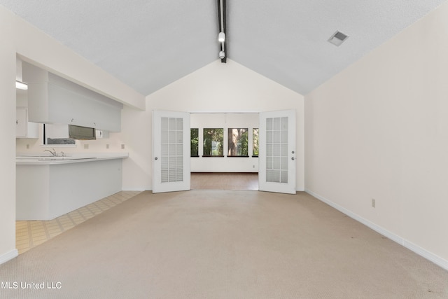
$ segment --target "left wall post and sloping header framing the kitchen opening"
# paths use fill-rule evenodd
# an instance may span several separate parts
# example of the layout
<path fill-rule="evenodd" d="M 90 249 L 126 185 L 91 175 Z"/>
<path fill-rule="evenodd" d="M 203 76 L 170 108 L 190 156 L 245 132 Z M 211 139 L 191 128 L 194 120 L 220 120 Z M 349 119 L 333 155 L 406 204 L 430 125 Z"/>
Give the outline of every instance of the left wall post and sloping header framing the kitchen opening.
<path fill-rule="evenodd" d="M 15 76 L 16 56 L 102 95 L 145 109 L 144 97 L 90 64 L 50 36 L 0 6 L 0 263 L 15 250 Z"/>

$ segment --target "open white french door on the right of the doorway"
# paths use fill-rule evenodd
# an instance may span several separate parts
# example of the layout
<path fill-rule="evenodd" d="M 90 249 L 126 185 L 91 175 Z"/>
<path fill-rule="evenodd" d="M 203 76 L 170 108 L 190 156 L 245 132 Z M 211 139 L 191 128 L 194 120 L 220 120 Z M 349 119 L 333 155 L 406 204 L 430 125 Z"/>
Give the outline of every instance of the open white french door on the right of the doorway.
<path fill-rule="evenodd" d="M 258 188 L 295 194 L 295 111 L 260 112 Z"/>

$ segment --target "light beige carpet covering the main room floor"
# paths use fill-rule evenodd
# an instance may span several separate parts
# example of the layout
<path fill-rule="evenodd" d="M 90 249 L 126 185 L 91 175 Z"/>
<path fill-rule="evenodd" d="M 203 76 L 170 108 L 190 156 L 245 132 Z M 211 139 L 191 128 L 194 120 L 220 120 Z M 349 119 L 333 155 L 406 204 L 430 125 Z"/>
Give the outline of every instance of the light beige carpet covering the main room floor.
<path fill-rule="evenodd" d="M 0 277 L 0 298 L 448 298 L 447 271 L 314 197 L 251 190 L 140 193 Z"/>

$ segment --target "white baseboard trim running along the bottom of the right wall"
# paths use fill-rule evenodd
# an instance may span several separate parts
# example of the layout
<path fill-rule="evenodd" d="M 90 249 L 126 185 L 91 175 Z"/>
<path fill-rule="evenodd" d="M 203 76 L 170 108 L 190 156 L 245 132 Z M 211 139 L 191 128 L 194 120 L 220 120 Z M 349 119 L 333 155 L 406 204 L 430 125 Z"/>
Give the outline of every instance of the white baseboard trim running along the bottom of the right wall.
<path fill-rule="evenodd" d="M 423 249 L 420 246 L 413 244 L 412 242 L 409 242 L 407 239 L 400 237 L 399 235 L 396 235 L 395 233 L 390 232 L 384 228 L 381 228 L 381 226 L 373 223 L 372 221 L 368 221 L 367 219 L 359 216 L 358 214 L 353 213 L 349 209 L 345 209 L 344 207 L 339 206 L 339 204 L 336 204 L 335 202 L 332 202 L 331 200 L 328 200 L 327 198 L 318 195 L 309 189 L 305 188 L 305 192 L 308 193 L 309 195 L 316 197 L 318 200 L 325 202 L 325 204 L 328 204 L 330 207 L 333 207 L 338 211 L 346 214 L 346 216 L 349 216 L 350 218 L 353 218 L 354 220 L 363 223 L 368 228 L 371 228 L 372 230 L 378 232 L 381 235 L 384 235 L 384 237 L 388 237 L 388 239 L 397 242 L 398 244 L 413 251 L 419 256 L 422 256 L 423 258 L 430 260 L 431 262 L 435 263 L 435 265 L 442 267 L 444 270 L 448 270 L 448 260 L 444 260 L 443 258 L 440 258 L 440 256 L 437 256 L 434 253 L 431 253 L 430 251 L 427 251 L 426 249 Z"/>

